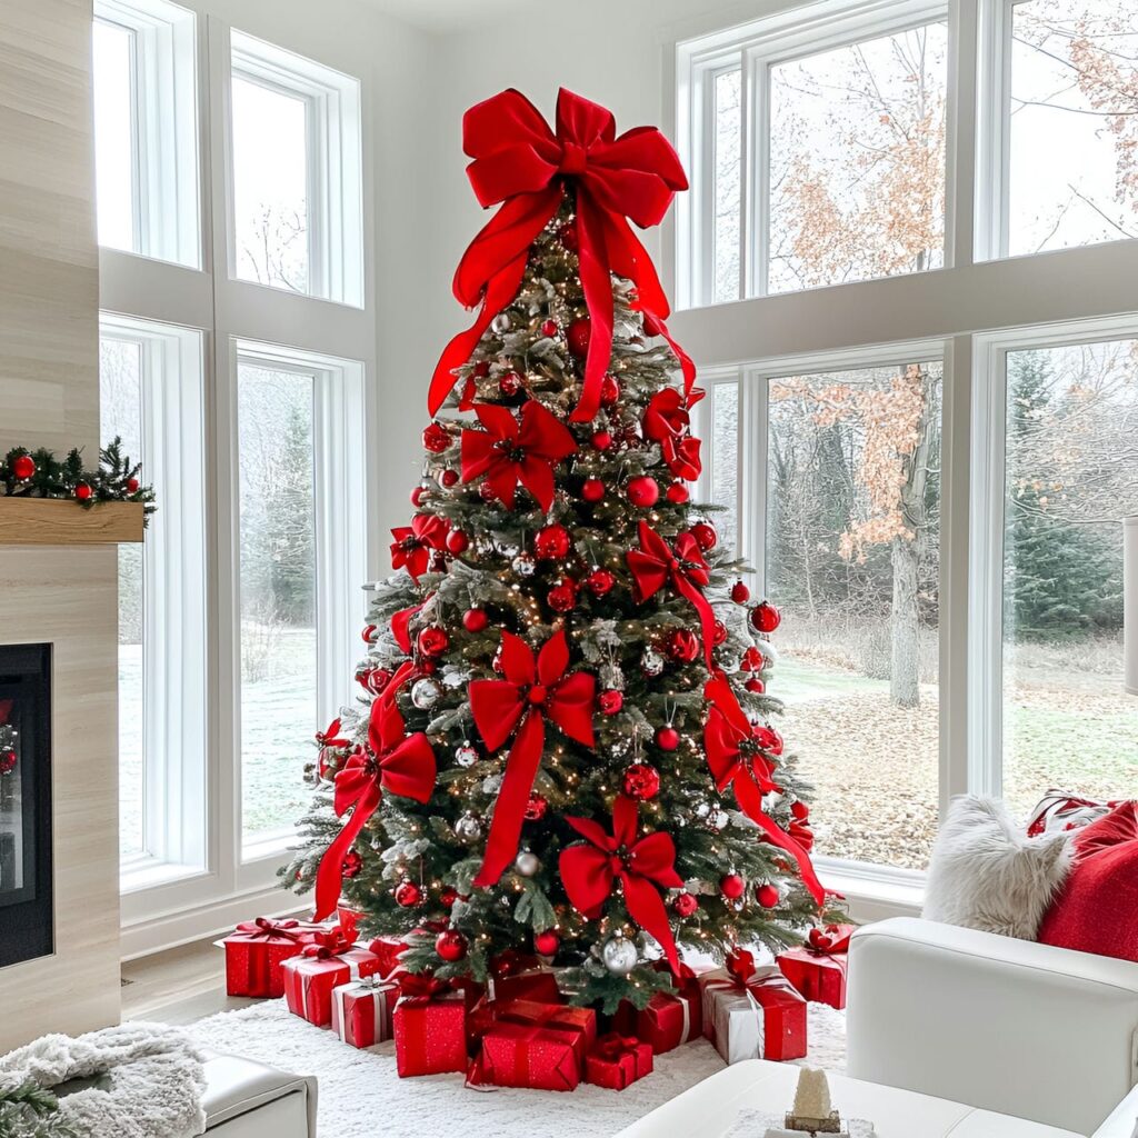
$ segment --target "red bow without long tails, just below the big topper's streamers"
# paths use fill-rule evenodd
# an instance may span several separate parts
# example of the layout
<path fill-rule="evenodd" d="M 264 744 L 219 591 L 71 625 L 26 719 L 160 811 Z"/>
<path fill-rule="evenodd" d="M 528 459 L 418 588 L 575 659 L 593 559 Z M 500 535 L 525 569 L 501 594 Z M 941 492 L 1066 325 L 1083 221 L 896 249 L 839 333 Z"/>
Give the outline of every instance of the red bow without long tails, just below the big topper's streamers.
<path fill-rule="evenodd" d="M 553 505 L 553 468 L 577 450 L 569 429 L 535 399 L 521 409 L 520 423 L 509 407 L 494 403 L 476 403 L 475 414 L 486 429 L 462 432 L 462 480 L 485 475 L 509 510 L 521 483 L 547 511 Z"/>

